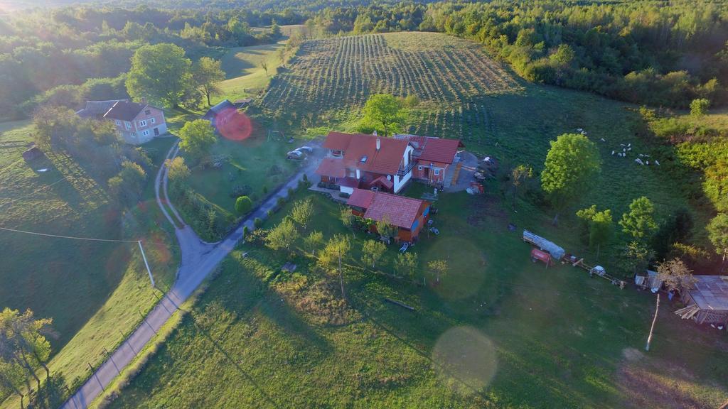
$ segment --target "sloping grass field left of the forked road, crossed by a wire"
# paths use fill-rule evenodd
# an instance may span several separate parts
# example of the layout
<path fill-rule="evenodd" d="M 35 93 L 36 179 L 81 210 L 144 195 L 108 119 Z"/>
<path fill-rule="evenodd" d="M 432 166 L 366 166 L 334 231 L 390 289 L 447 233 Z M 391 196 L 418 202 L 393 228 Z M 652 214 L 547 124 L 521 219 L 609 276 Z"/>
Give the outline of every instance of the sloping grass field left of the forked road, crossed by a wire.
<path fill-rule="evenodd" d="M 159 215 L 153 190 L 137 208 L 119 214 L 109 202 L 105 181 L 87 172 L 92 164 L 79 164 L 63 152 L 23 161 L 20 154 L 32 132 L 28 122 L 0 124 L 0 226 L 75 237 L 144 239 L 150 242 L 146 251 L 155 279 L 170 285 L 175 251 L 165 244 L 169 233 L 154 226 Z M 166 153 L 170 143 L 155 142 L 152 156 L 161 160 L 157 153 Z M 46 172 L 39 172 L 44 168 Z M 138 308 L 146 310 L 156 302 L 135 243 L 0 231 L 0 260 L 0 307 L 30 308 L 36 316 L 54 320 L 58 338 L 50 340 L 54 355 L 49 366 L 69 385 L 88 376 L 85 362 L 98 364 L 103 349 L 113 349 L 122 340 L 119 331 L 135 327 Z"/>

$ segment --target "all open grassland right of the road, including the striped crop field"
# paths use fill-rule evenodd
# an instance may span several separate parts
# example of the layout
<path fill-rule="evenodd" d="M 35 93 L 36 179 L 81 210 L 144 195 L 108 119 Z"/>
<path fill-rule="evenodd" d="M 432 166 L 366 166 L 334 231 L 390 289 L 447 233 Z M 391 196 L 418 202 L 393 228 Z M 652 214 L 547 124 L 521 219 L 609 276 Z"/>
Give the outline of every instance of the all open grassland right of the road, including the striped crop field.
<path fill-rule="evenodd" d="M 726 400 L 724 333 L 681 321 L 663 298 L 645 352 L 654 295 L 571 266 L 544 269 L 521 240 L 530 229 L 626 277 L 622 233 L 597 259 L 579 239 L 574 212 L 596 204 L 618 219 L 642 195 L 658 221 L 687 208 L 695 236 L 702 234 L 705 216 L 680 194 L 680 181 L 633 162 L 638 153 L 664 152 L 636 136 L 636 106 L 521 82 L 467 41 L 392 33 L 304 43 L 253 109 L 303 138 L 311 127 L 352 130 L 375 92 L 417 95 L 408 130 L 461 138 L 468 151 L 499 162 L 499 177 L 515 164 L 537 176 L 549 141 L 582 129 L 601 153 L 596 188 L 558 226 L 537 178 L 515 203 L 499 178 L 483 196 L 441 194 L 434 218 L 441 234 L 411 250 L 419 256 L 414 282 L 391 276 L 394 246 L 378 273 L 366 269 L 359 249 L 368 237 L 357 232 L 344 261 L 347 301 L 338 277 L 318 269 L 300 240 L 295 255 L 240 244 L 111 408 L 712 408 Z M 631 143 L 632 157 L 612 155 L 622 143 Z M 405 194 L 425 190 L 414 183 Z M 351 236 L 339 204 L 313 199 L 303 234 Z M 289 211 L 290 204 L 264 228 Z M 424 266 L 440 258 L 451 269 L 432 285 Z M 296 271 L 281 270 L 287 261 Z"/>

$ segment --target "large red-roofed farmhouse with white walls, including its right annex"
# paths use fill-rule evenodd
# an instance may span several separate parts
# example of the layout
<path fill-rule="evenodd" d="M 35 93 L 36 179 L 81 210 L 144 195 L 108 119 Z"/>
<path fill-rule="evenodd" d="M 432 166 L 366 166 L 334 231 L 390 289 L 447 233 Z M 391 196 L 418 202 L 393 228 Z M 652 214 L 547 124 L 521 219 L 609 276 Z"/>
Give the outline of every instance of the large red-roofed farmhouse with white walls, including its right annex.
<path fill-rule="evenodd" d="M 411 179 L 435 186 L 448 184 L 448 167 L 456 160 L 459 140 L 417 135 L 377 135 L 329 132 L 317 175 L 327 185 L 351 194 L 355 188 L 399 193 Z"/>

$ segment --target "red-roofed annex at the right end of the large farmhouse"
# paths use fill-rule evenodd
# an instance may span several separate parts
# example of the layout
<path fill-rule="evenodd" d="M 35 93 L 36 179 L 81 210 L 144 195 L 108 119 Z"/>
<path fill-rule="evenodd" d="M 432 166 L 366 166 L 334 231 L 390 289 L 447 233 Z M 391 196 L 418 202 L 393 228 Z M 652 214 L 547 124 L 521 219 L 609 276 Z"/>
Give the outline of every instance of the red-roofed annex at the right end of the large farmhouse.
<path fill-rule="evenodd" d="M 448 173 L 448 169 L 456 161 L 458 149 L 464 148 L 459 139 L 419 135 L 395 135 L 395 139 L 407 140 L 414 148 L 412 178 L 440 187 L 449 185 L 450 180 L 446 179 L 446 175 L 451 173 Z"/>

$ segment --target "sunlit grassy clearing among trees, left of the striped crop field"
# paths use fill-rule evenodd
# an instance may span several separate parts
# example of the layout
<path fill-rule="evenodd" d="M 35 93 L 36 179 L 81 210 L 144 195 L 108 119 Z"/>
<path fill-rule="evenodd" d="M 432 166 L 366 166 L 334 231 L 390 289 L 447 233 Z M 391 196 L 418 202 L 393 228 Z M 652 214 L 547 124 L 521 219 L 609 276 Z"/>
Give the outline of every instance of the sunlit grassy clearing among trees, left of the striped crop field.
<path fill-rule="evenodd" d="M 229 49 L 221 58 L 225 81 L 218 84 L 222 92 L 215 97 L 214 102 L 223 99 L 234 101 L 261 93 L 277 73 L 281 64 L 278 51 L 284 47 L 285 41 L 280 41 L 276 44 Z M 267 64 L 267 73 L 261 63 Z"/>

